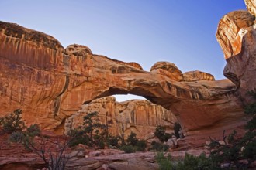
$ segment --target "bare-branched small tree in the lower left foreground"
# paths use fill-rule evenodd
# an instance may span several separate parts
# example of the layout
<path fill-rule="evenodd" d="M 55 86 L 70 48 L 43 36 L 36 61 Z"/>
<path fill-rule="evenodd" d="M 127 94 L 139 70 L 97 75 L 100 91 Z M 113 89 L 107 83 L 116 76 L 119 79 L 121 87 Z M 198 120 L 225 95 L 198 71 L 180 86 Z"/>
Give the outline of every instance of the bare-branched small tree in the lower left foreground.
<path fill-rule="evenodd" d="M 35 137 L 38 136 L 36 142 Z M 75 136 L 74 136 L 75 138 Z M 69 157 L 65 150 L 69 143 L 74 139 L 57 138 L 57 141 L 51 140 L 47 136 L 40 135 L 40 128 L 37 124 L 31 125 L 25 131 L 14 131 L 9 136 L 9 141 L 20 142 L 26 149 L 33 151 L 42 158 L 45 168 L 49 170 L 64 170 Z"/>

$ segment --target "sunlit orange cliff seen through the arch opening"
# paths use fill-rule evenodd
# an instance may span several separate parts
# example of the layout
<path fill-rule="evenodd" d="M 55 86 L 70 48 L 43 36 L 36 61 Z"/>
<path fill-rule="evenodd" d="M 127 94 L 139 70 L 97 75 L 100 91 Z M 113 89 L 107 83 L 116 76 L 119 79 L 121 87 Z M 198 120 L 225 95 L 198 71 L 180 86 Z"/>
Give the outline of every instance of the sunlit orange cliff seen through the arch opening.
<path fill-rule="evenodd" d="M 109 125 L 110 134 L 124 135 L 125 138 L 130 135 L 131 131 L 137 134 L 137 138 L 152 138 L 157 125 L 164 126 L 171 133 L 177 122 L 171 111 L 147 100 L 128 100 L 119 103 L 116 102 L 115 97 L 104 97 L 82 105 L 78 113 L 67 118 L 65 134 L 70 129 L 83 125 L 83 117 L 93 111 L 99 113 L 99 120 L 102 124 Z"/>

